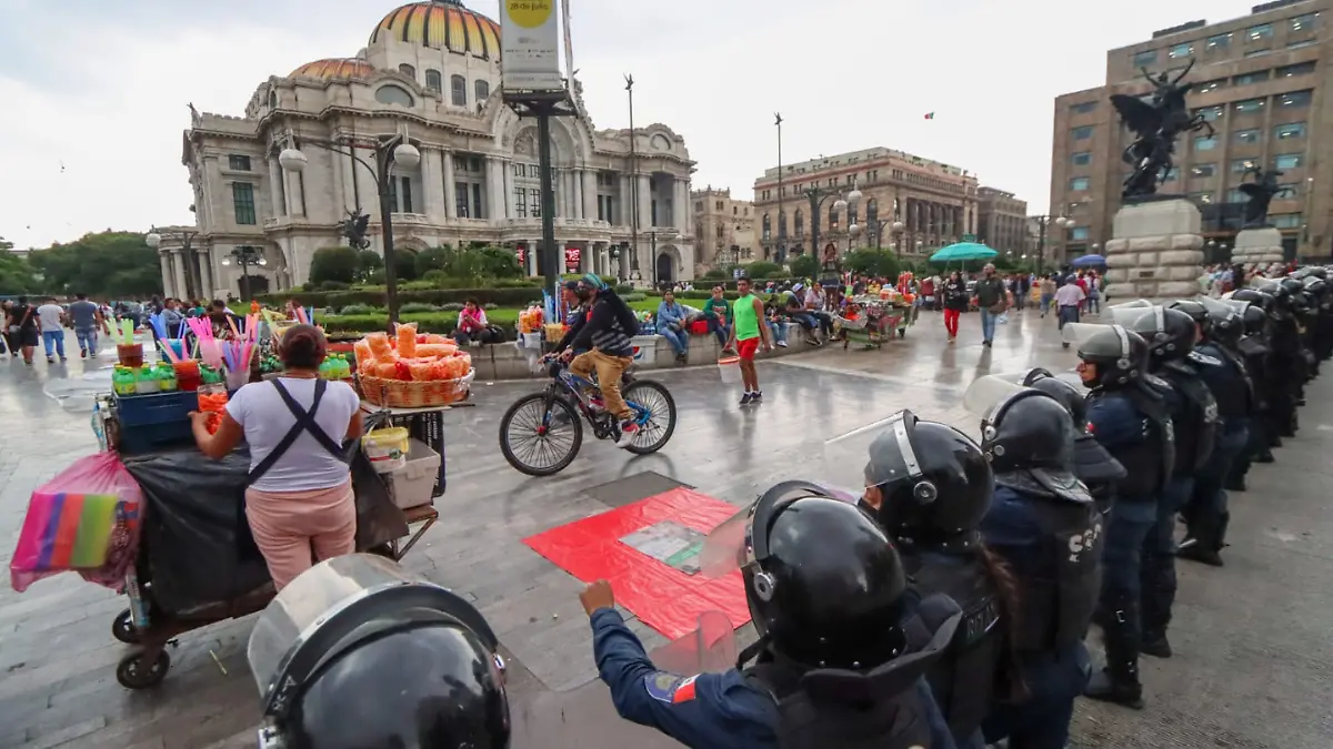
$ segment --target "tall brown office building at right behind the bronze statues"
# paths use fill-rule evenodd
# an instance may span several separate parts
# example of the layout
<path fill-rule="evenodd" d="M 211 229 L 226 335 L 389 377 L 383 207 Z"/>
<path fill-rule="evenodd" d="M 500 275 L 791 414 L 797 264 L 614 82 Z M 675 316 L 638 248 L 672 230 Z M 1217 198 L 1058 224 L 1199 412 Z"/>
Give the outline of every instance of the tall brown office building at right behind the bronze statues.
<path fill-rule="evenodd" d="M 1146 96 L 1153 87 L 1145 71 L 1174 76 L 1192 61 L 1188 103 L 1216 132 L 1181 136 L 1161 192 L 1200 207 L 1209 259 L 1234 245 L 1245 203 L 1238 188 L 1254 179 L 1253 168 L 1282 172 L 1288 191 L 1273 200 L 1269 217 L 1288 256 L 1333 253 L 1330 8 L 1333 0 L 1282 0 L 1241 19 L 1161 29 L 1108 52 L 1104 85 L 1057 97 L 1050 212 L 1074 224 L 1050 229 L 1056 257 L 1077 257 L 1112 239 L 1132 171 L 1121 155 L 1133 135 L 1120 125 L 1110 95 Z"/>

